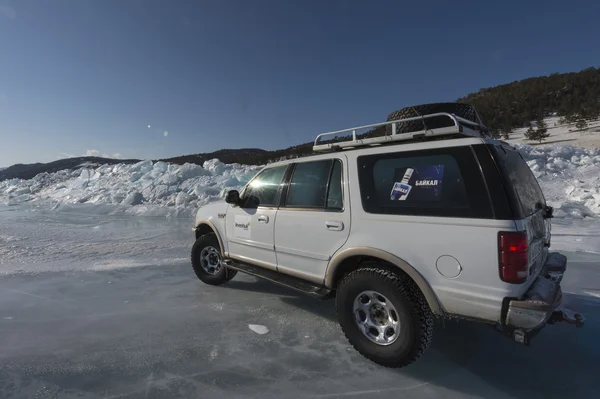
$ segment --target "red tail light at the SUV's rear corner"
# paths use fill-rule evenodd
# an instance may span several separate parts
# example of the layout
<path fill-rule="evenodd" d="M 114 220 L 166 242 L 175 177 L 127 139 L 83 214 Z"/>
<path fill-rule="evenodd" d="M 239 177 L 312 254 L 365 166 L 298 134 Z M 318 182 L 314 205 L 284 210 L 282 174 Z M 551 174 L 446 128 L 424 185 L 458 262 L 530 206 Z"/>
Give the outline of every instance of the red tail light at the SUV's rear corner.
<path fill-rule="evenodd" d="M 500 278 L 512 284 L 527 280 L 527 233 L 501 231 L 498 233 Z"/>

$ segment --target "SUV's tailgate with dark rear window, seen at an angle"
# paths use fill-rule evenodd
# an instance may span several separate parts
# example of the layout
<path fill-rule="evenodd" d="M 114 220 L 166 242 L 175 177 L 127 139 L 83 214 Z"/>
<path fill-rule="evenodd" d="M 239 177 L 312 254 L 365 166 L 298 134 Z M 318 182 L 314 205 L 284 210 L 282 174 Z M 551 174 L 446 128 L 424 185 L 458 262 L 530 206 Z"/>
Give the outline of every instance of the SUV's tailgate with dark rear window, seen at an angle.
<path fill-rule="evenodd" d="M 550 245 L 550 219 L 545 217 L 546 199 L 521 154 L 507 145 L 492 147 L 516 215 L 517 229 L 526 231 L 529 241 L 529 279 L 537 276 Z"/>

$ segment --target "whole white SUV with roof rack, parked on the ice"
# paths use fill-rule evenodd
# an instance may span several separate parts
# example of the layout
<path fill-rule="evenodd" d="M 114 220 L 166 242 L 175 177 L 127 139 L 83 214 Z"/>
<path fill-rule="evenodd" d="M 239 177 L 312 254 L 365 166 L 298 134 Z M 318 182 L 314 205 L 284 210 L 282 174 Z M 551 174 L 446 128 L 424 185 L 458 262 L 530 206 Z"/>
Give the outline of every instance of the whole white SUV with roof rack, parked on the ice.
<path fill-rule="evenodd" d="M 356 134 L 381 127 L 390 134 Z M 582 325 L 560 307 L 566 258 L 548 252 L 552 208 L 520 154 L 478 117 L 361 126 L 322 134 L 314 149 L 326 153 L 270 164 L 241 194 L 198 211 L 200 280 L 241 271 L 335 296 L 350 343 L 388 367 L 425 351 L 434 316 L 494 324 L 524 344 L 547 323 Z"/>

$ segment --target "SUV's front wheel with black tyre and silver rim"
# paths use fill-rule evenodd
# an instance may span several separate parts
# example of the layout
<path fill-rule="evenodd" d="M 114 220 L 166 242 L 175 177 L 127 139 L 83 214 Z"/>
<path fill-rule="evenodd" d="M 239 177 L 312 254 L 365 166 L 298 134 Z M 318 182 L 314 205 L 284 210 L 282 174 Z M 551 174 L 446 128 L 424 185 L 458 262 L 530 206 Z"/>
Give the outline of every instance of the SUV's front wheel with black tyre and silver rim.
<path fill-rule="evenodd" d="M 236 270 L 226 268 L 222 262 L 221 247 L 215 233 L 200 236 L 192 247 L 192 267 L 202 282 L 221 285 L 237 274 Z"/>

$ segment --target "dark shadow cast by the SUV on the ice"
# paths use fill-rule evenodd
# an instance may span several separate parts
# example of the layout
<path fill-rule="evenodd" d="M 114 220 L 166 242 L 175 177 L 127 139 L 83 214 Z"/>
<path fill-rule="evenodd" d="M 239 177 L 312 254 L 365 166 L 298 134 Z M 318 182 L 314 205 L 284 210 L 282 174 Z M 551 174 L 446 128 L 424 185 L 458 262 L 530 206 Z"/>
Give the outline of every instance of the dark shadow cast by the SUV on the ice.
<path fill-rule="evenodd" d="M 590 298 L 565 294 L 565 303 L 586 315 L 584 328 L 564 323 L 547 326 L 529 347 L 489 325 L 436 320 L 433 344 L 427 353 L 416 363 L 392 372 L 486 399 L 597 397 L 600 301 Z M 337 322 L 332 300 L 302 295 L 280 300 Z"/>

